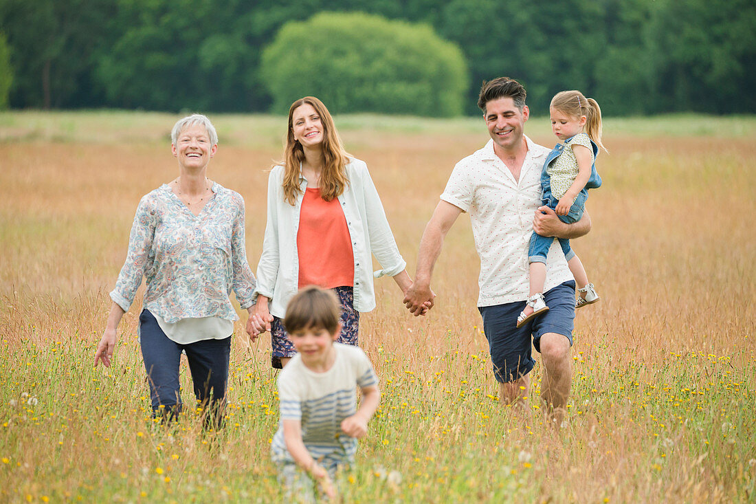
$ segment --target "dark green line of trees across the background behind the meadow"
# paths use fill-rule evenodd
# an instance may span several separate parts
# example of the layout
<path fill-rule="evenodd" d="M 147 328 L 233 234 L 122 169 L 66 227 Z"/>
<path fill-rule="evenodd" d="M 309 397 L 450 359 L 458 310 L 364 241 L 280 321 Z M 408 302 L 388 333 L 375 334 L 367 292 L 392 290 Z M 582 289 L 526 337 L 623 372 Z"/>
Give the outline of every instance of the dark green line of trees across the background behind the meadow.
<path fill-rule="evenodd" d="M 463 108 L 454 114 L 476 113 L 482 80 L 502 75 L 523 82 L 538 110 L 559 90 L 581 89 L 611 115 L 756 112 L 753 0 L 0 0 L 0 107 L 5 88 L 14 108 L 279 110 L 274 76 L 306 81 L 320 67 L 297 75 L 263 55 L 283 26 L 321 11 L 415 23 L 407 26 L 459 48 L 466 70 L 433 63 L 425 88 L 452 86 L 460 76 L 451 72 L 461 73 Z M 386 39 L 387 54 L 396 38 Z M 355 45 L 362 41 L 340 47 Z M 386 61 L 429 67 L 433 54 Z"/>

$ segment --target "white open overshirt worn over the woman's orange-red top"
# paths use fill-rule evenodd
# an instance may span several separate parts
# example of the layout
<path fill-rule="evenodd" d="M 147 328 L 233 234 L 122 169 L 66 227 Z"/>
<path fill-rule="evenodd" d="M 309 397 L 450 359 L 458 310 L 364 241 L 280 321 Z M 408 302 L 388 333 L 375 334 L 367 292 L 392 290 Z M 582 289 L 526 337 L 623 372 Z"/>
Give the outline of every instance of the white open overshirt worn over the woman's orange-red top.
<path fill-rule="evenodd" d="M 373 275 L 398 275 L 407 267 L 399 254 L 394 235 L 383 211 L 378 192 L 367 165 L 350 158 L 346 165 L 349 185 L 339 196 L 344 210 L 352 252 L 355 257 L 355 310 L 369 312 L 376 306 L 373 289 Z M 299 288 L 299 253 L 296 236 L 299 229 L 299 211 L 307 187 L 307 180 L 300 176 L 302 193 L 295 205 L 283 199 L 283 166 L 274 166 L 268 176 L 268 223 L 265 226 L 265 240 L 262 255 L 257 265 L 257 294 L 271 299 L 268 305 L 271 315 L 283 318 L 289 300 Z M 375 254 L 384 269 L 372 272 Z"/>

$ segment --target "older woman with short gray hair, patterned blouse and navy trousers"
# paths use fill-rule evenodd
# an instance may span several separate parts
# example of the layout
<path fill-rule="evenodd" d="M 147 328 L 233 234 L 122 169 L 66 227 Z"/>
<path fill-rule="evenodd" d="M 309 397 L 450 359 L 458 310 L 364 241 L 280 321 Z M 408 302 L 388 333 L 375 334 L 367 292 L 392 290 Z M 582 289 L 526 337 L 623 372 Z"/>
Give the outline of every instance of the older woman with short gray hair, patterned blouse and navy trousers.
<path fill-rule="evenodd" d="M 139 316 L 144 368 L 153 415 L 181 411 L 178 380 L 186 353 L 194 394 L 217 426 L 225 405 L 234 320 L 233 288 L 251 312 L 256 281 L 246 261 L 244 201 L 207 178 L 218 135 L 201 114 L 184 117 L 171 132 L 178 177 L 141 198 L 125 264 L 110 293 L 113 306 L 95 353 L 95 366 L 110 367 L 116 328 L 144 275 L 147 291 Z"/>

